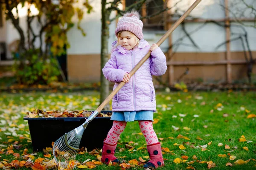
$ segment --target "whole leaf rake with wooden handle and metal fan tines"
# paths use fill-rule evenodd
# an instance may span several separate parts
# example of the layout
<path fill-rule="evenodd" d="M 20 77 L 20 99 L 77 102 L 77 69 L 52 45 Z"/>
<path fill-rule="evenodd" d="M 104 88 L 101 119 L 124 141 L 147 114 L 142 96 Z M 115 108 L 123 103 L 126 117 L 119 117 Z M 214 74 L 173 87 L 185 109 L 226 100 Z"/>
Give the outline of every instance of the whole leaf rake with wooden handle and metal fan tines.
<path fill-rule="evenodd" d="M 190 14 L 190 12 L 200 3 L 201 0 L 195 0 L 195 3 L 189 7 L 189 9 L 172 25 L 171 28 L 163 35 L 163 37 L 157 42 L 160 46 L 164 40 L 180 25 L 180 23 Z M 140 68 L 141 65 L 150 57 L 151 51 L 140 60 L 140 62 L 131 70 L 130 76 L 134 75 L 135 72 Z M 119 85 L 112 91 L 112 93 L 102 102 L 101 105 L 94 111 L 89 118 L 79 127 L 65 133 L 61 136 L 53 145 L 53 155 L 59 168 L 63 169 L 74 169 L 76 168 L 75 160 L 76 153 L 79 150 L 79 144 L 84 133 L 84 129 L 87 127 L 90 121 L 92 121 L 102 109 L 110 102 L 113 96 L 125 85 L 125 82 L 120 82 Z"/>

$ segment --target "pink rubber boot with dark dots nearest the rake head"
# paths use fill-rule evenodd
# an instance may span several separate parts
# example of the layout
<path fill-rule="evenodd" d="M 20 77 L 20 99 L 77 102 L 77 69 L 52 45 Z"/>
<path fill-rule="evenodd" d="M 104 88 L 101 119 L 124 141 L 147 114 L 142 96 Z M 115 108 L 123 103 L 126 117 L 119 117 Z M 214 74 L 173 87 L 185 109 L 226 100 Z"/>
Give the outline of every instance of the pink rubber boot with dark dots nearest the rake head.
<path fill-rule="evenodd" d="M 105 140 L 102 148 L 102 158 L 101 158 L 102 163 L 109 164 L 109 161 L 119 162 L 119 160 L 116 159 L 116 156 L 114 156 L 117 142 L 116 144 L 108 144 L 108 143 L 105 143 Z"/>

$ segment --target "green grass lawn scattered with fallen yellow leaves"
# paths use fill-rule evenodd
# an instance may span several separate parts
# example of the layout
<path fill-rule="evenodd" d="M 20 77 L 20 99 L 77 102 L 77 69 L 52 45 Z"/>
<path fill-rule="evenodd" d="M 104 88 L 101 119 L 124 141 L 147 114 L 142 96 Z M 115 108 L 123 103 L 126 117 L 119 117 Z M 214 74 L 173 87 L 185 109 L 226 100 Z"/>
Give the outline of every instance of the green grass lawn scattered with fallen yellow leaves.
<path fill-rule="evenodd" d="M 95 110 L 98 105 L 99 93 L 93 91 L 66 94 L 1 94 L 0 162 L 2 164 L 0 163 L 0 169 L 3 164 L 11 163 L 15 159 L 26 161 L 28 158 L 22 155 L 25 148 L 28 149 L 27 155 L 34 153 L 28 124 L 23 120 L 26 112 L 36 108 L 46 111 Z M 203 161 L 215 163 L 216 167 L 212 167 L 215 170 L 256 170 L 256 118 L 247 118 L 250 114 L 256 114 L 255 92 L 158 92 L 154 130 L 161 140 L 162 147 L 170 150 L 170 152 L 163 151 L 165 167 L 159 170 L 183 170 L 188 166 L 196 170 L 206 170 L 208 164 Z M 180 135 L 183 138 L 178 137 Z M 242 135 L 246 139 L 245 142 L 239 142 Z M 209 142 L 211 144 L 208 144 Z M 223 146 L 219 147 L 219 143 Z M 129 151 L 125 144 L 130 144 L 134 150 Z M 183 144 L 186 149 L 181 150 L 180 144 Z M 200 145 L 207 145 L 207 150 L 203 151 Z M 225 149 L 225 145 L 230 149 Z M 15 157 L 13 153 L 7 152 L 10 150 L 8 147 L 11 146 L 20 147 L 12 149 L 20 156 Z M 145 138 L 140 135 L 138 122 L 129 122 L 120 136 L 116 156 L 126 156 L 123 158 L 126 163 L 132 159 L 139 161 L 139 157 L 148 156 L 146 149 L 137 150 L 139 147 L 145 147 Z M 248 150 L 243 147 L 247 147 Z M 124 151 L 119 152 L 122 148 Z M 220 157 L 219 154 L 225 154 L 227 157 Z M 236 159 L 230 160 L 228 154 L 236 156 Z M 192 158 L 194 155 L 197 157 L 195 160 L 198 161 L 188 165 L 187 162 L 194 160 Z M 35 159 L 45 158 L 43 152 L 38 152 L 34 156 Z M 176 164 L 174 159 L 182 159 L 182 156 L 188 156 L 187 161 Z M 87 159 L 96 160 L 96 156 L 89 153 L 77 156 L 80 163 Z M 239 159 L 250 160 L 246 164 L 235 164 Z M 228 162 L 233 166 L 226 166 Z M 19 169 L 28 168 L 19 167 Z M 116 170 L 121 167 L 97 165 L 94 169 Z M 142 170 L 143 168 L 136 165 L 131 169 Z"/>

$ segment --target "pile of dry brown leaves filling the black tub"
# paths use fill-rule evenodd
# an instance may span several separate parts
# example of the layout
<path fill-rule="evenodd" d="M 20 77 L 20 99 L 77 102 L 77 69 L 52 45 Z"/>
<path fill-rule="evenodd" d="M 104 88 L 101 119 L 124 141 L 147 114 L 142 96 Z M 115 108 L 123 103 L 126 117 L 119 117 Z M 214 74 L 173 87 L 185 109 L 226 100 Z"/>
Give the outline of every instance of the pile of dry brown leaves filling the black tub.
<path fill-rule="evenodd" d="M 89 117 L 93 111 L 43 111 L 37 109 L 32 112 L 27 112 L 27 118 L 40 118 L 40 117 L 47 117 L 47 118 L 54 118 L 54 117 Z M 110 117 L 111 113 L 99 113 L 96 117 Z"/>

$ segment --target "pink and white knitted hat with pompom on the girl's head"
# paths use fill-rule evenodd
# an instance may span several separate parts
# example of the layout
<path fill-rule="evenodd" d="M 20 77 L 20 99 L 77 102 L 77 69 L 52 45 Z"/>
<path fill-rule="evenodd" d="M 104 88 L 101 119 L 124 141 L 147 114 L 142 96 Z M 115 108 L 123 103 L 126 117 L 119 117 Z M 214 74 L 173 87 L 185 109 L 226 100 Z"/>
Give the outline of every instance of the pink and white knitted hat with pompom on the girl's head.
<path fill-rule="evenodd" d="M 126 13 L 124 17 L 118 21 L 115 34 L 117 37 L 119 31 L 130 31 L 141 40 L 143 39 L 142 27 L 143 23 L 140 20 L 139 12 L 131 11 Z"/>

